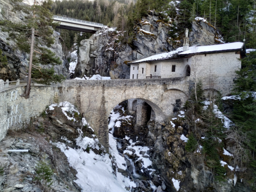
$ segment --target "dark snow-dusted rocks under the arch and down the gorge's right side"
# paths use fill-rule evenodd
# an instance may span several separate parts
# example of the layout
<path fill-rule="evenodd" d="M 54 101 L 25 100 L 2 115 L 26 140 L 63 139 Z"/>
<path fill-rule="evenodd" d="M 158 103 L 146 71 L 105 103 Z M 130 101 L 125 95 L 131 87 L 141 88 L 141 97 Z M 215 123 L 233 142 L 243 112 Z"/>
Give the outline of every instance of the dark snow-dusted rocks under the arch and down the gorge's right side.
<path fill-rule="evenodd" d="M 123 106 L 123 108 L 121 108 Z M 115 121 L 113 132 L 119 148 L 126 160 L 126 172 L 118 169 L 123 175 L 127 174 L 134 181 L 141 183 L 134 191 L 148 190 L 148 183 L 153 183 L 158 192 L 162 191 L 209 191 L 209 192 L 238 192 L 250 191 L 250 187 L 243 179 L 242 171 L 239 168 L 226 169 L 226 178 L 220 183 L 212 178 L 211 170 L 204 164 L 204 153 L 202 146 L 198 146 L 195 152 L 189 153 L 185 150 L 188 135 L 191 134 L 191 127 L 180 108 L 171 119 L 171 123 L 159 124 L 151 119 L 146 126 L 141 126 L 136 133 L 136 113 L 126 109 L 126 102 L 120 103 L 110 116 L 110 121 L 115 114 L 121 118 Z M 132 118 L 126 118 L 129 116 Z M 119 123 L 117 123 L 119 121 Z M 141 150 L 138 152 L 138 148 Z M 222 152 L 221 152 L 222 153 Z M 143 159 L 142 159 L 143 158 Z M 227 155 L 222 158 L 228 159 Z M 146 159 L 152 161 L 152 165 L 146 165 Z M 130 162 L 132 161 L 132 162 Z M 143 165 L 144 164 L 144 165 Z M 146 167 L 148 166 L 148 167 Z M 234 165 L 232 165 L 234 166 Z M 235 166 L 234 166 L 235 167 Z"/>

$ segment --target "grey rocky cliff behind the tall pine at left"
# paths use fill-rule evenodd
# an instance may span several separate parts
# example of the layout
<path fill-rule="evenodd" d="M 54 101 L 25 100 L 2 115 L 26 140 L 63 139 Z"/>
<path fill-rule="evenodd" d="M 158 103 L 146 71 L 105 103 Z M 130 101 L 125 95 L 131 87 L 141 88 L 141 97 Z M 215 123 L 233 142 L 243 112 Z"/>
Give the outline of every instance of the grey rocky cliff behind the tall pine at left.
<path fill-rule="evenodd" d="M 0 20 L 10 20 L 11 22 L 22 22 L 25 18 L 24 13 L 14 13 L 12 12 L 12 5 L 9 1 L 0 0 Z M 51 46 L 50 50 L 56 53 L 56 56 L 60 58 L 62 63 L 63 53 L 60 44 L 59 35 L 54 32 L 55 42 Z M 27 70 L 29 66 L 29 54 L 24 53 L 22 50 L 16 49 L 15 42 L 13 40 L 7 40 L 8 34 L 0 30 L 0 49 L 3 50 L 3 54 L 7 56 L 8 65 L 5 69 L 0 71 L 0 79 L 16 80 L 27 79 Z M 42 45 L 44 46 L 44 45 Z M 46 68 L 51 68 L 51 65 L 46 66 Z M 54 66 L 56 74 L 62 74 L 68 77 L 68 70 L 64 65 Z"/>

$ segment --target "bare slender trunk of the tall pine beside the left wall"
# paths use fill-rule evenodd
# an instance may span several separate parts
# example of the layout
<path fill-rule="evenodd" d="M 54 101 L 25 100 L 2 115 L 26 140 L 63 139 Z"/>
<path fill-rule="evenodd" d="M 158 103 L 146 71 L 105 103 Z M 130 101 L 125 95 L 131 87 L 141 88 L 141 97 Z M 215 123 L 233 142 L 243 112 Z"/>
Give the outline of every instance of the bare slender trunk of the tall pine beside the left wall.
<path fill-rule="evenodd" d="M 35 0 L 34 0 L 34 6 L 35 6 Z M 33 18 L 35 18 L 35 12 L 33 13 Z M 26 99 L 29 98 L 30 89 L 31 89 L 31 72 L 32 72 L 32 61 L 33 61 L 33 52 L 34 52 L 34 37 L 35 37 L 35 28 L 32 28 L 32 34 L 31 34 L 31 45 L 30 45 L 30 57 L 29 57 L 29 71 L 28 71 L 28 81 L 27 81 L 27 87 L 26 91 L 22 97 L 25 97 Z"/>

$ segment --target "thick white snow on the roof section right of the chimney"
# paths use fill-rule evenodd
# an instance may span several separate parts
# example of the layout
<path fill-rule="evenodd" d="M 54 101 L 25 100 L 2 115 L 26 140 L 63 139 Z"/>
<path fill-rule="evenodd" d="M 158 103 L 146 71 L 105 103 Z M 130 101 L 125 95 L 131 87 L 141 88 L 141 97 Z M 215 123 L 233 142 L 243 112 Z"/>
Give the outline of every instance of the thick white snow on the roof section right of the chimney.
<path fill-rule="evenodd" d="M 215 52 L 215 51 L 239 50 L 239 49 L 242 49 L 243 46 L 244 46 L 243 42 L 231 42 L 229 44 L 190 47 L 189 50 L 183 51 L 179 55 L 185 55 L 185 54 L 191 54 L 191 53 Z"/>

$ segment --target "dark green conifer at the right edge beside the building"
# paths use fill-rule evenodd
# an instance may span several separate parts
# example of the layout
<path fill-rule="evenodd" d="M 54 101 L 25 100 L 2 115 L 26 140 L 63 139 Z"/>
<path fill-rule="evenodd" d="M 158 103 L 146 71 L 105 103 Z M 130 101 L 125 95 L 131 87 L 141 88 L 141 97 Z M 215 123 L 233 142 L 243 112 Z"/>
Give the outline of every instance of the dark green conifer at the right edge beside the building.
<path fill-rule="evenodd" d="M 237 74 L 233 94 L 241 99 L 234 102 L 233 121 L 243 127 L 249 138 L 244 144 L 251 152 L 250 165 L 254 173 L 251 182 L 256 187 L 256 51 L 242 59 L 242 69 Z"/>

